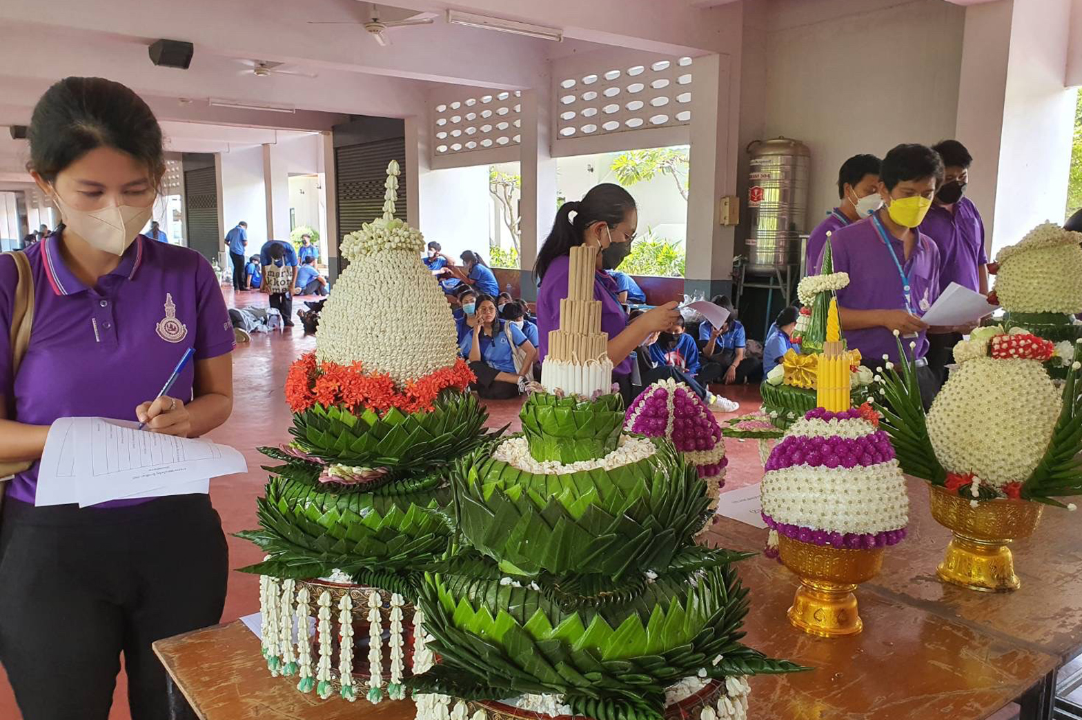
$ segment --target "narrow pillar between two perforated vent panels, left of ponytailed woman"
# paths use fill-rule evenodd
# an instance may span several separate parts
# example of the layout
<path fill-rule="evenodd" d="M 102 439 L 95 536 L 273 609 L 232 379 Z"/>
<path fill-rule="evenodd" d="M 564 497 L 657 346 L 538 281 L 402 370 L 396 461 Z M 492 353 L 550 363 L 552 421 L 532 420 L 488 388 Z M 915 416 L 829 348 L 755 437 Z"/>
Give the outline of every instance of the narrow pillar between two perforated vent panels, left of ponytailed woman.
<path fill-rule="evenodd" d="M 522 268 L 523 297 L 537 298 L 533 263 L 538 248 L 552 229 L 556 218 L 556 160 L 551 142 L 555 119 L 552 117 L 552 78 L 538 78 L 537 86 L 524 90 L 522 96 L 522 200 L 518 262 Z"/>

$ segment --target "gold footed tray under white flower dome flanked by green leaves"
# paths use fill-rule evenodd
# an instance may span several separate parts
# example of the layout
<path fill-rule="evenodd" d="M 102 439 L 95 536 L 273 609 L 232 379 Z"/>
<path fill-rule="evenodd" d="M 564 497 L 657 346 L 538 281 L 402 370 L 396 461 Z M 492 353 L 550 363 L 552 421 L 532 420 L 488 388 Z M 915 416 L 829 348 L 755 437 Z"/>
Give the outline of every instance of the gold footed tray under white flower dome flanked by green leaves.
<path fill-rule="evenodd" d="M 953 533 L 936 569 L 939 579 L 981 592 L 1011 592 L 1021 586 L 1007 545 L 1029 537 L 1044 506 L 1014 499 L 982 501 L 977 507 L 938 485 L 928 485 L 932 517 Z"/>

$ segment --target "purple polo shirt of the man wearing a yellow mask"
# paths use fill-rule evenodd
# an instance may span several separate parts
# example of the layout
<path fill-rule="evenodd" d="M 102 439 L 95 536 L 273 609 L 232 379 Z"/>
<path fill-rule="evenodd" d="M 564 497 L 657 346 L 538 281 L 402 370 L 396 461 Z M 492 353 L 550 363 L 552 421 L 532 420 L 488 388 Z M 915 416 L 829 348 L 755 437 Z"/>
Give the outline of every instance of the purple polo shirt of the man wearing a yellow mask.
<path fill-rule="evenodd" d="M 889 234 L 889 230 L 887 230 Z M 939 297 L 939 249 L 927 236 L 918 234 L 913 253 L 906 259 L 906 249 L 898 238 L 888 235 L 894 252 L 909 276 L 912 312 L 921 317 Z M 898 267 L 883 244 L 871 217 L 854 223 L 834 232 L 830 239 L 834 271 L 848 272 L 849 284 L 837 291 L 837 304 L 855 310 L 905 310 L 906 294 Z M 922 332 L 915 338 L 915 357 L 923 358 L 928 342 Z M 860 350 L 863 364 L 872 370 L 888 355 L 898 361 L 898 346 L 894 333 L 886 328 L 846 330 L 845 339 L 850 348 Z M 902 337 L 909 348 L 912 337 Z"/>

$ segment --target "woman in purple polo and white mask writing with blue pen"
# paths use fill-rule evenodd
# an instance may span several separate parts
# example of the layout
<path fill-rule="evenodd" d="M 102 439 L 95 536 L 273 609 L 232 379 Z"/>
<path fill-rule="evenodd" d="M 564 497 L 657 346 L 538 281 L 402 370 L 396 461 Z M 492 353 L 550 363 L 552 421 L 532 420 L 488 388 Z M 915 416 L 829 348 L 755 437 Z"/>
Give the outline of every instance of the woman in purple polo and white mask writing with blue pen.
<path fill-rule="evenodd" d="M 116 82 L 67 78 L 38 102 L 29 141 L 31 175 L 63 225 L 26 251 L 35 316 L 17 373 L 17 274 L 0 257 L 0 462 L 38 461 L 61 417 L 179 437 L 220 426 L 234 341 L 217 280 L 199 254 L 138 235 L 166 168 L 150 108 Z M 195 362 L 156 399 L 189 348 Z M 169 717 L 150 643 L 221 618 L 217 512 L 206 494 L 37 507 L 37 468 L 0 483 L 0 663 L 23 717 L 106 720 L 121 652 L 131 717 Z"/>

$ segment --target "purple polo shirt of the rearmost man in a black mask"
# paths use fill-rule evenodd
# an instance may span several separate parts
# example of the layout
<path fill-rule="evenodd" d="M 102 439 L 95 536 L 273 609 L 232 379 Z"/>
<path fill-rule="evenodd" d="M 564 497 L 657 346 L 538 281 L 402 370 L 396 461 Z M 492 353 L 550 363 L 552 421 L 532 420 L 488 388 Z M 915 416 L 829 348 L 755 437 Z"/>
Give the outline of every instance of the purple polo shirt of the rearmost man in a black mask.
<path fill-rule="evenodd" d="M 939 248 L 940 291 L 951 282 L 980 291 L 977 269 L 988 264 L 985 253 L 985 223 L 969 198 L 954 203 L 953 212 L 937 204 L 928 209 L 921 232 Z"/>

